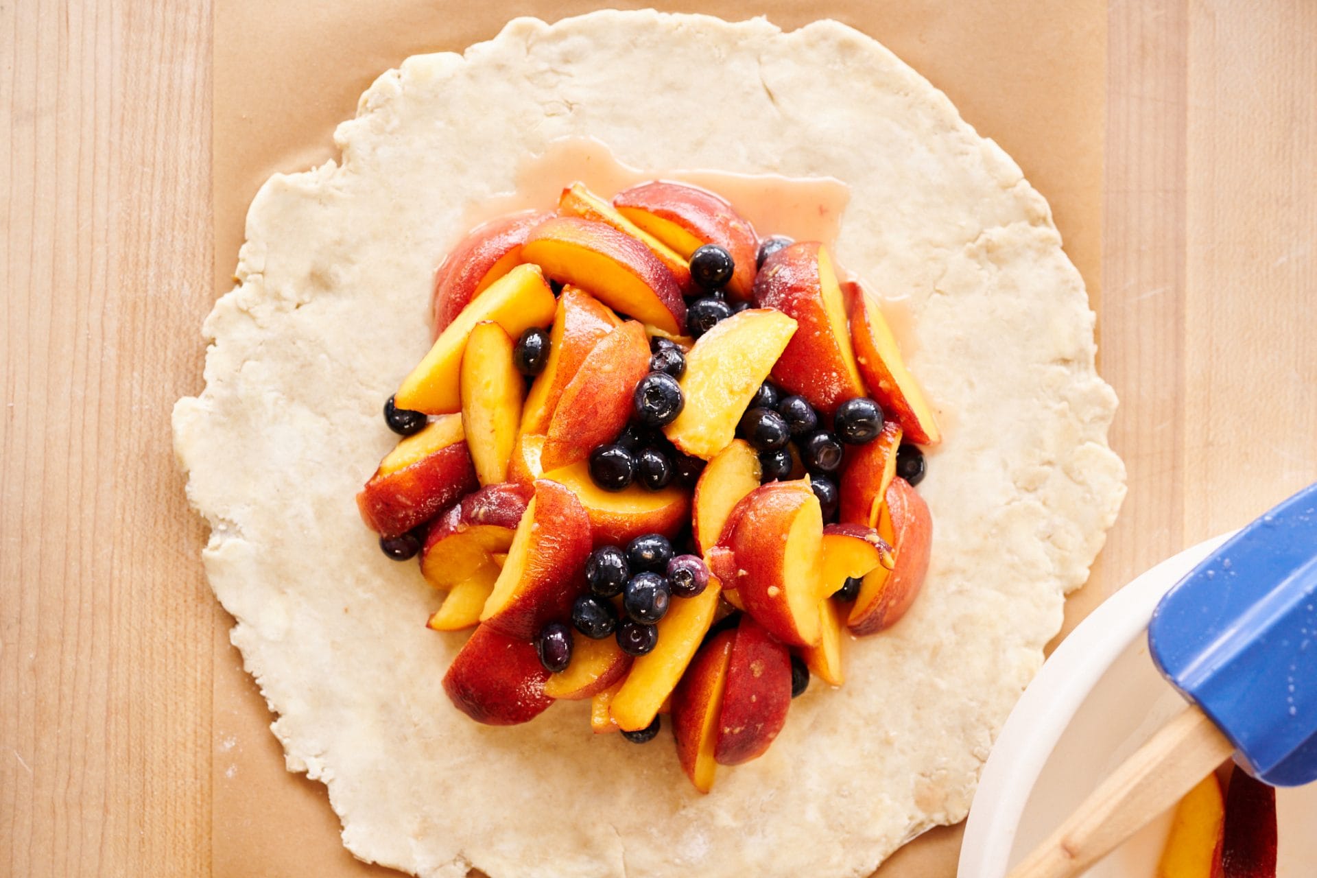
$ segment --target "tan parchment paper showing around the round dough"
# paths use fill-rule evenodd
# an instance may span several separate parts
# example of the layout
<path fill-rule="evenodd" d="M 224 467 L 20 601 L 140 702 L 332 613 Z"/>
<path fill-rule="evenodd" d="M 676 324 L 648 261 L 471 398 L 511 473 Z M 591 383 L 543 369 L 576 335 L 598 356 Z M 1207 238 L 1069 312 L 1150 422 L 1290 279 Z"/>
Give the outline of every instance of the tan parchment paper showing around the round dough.
<path fill-rule="evenodd" d="M 766 14 L 792 29 L 844 21 L 884 42 L 984 136 L 1010 153 L 1051 201 L 1065 250 L 1100 303 L 1106 3 L 1104 0 L 790 0 L 612 3 Z M 213 49 L 215 295 L 232 287 L 248 204 L 275 171 L 335 155 L 332 133 L 357 97 L 407 55 L 461 51 L 519 14 L 554 21 L 599 8 L 582 0 L 217 0 Z M 1080 592 L 1083 595 L 1083 592 Z M 1083 596 L 1084 607 L 1092 606 Z M 219 607 L 215 636 L 212 875 L 263 878 L 395 875 L 340 844 L 324 787 L 288 774 L 271 716 Z M 1073 615 L 1073 613 L 1072 613 Z M 440 670 L 436 670 L 440 674 Z M 903 848 L 882 878 L 951 878 L 959 828 Z"/>

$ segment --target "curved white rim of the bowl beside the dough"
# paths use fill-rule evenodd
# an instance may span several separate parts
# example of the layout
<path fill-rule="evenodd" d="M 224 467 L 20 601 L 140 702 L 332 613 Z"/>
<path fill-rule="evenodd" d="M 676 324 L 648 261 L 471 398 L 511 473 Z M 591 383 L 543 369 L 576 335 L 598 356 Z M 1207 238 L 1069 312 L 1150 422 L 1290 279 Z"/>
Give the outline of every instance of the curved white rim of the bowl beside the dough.
<path fill-rule="evenodd" d="M 1029 796 L 1080 704 L 1147 629 L 1162 596 L 1217 546 L 1222 533 L 1146 570 L 1081 621 L 1021 695 L 979 778 L 960 848 L 959 878 L 1002 878 Z"/>

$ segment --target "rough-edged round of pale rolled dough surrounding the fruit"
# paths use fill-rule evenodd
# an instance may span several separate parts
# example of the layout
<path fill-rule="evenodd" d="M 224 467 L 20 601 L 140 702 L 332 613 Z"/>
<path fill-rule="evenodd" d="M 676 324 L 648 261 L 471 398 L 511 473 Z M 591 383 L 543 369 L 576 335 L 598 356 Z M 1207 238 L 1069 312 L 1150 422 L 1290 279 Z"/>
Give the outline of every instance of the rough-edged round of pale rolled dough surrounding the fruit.
<path fill-rule="evenodd" d="M 910 297 L 910 366 L 947 428 L 919 487 L 923 595 L 710 795 L 670 736 L 594 736 L 587 703 L 515 728 L 458 713 L 440 679 L 465 634 L 424 628 L 436 594 L 353 502 L 392 445 L 379 407 L 428 349 L 465 209 L 566 136 L 637 167 L 844 180 L 838 261 Z M 1010 157 L 838 22 L 655 12 L 518 18 L 462 55 L 408 58 L 336 142 L 341 162 L 253 201 L 238 286 L 205 321 L 205 390 L 174 433 L 233 642 L 344 844 L 420 875 L 860 875 L 963 819 L 1123 495 L 1084 284 Z"/>

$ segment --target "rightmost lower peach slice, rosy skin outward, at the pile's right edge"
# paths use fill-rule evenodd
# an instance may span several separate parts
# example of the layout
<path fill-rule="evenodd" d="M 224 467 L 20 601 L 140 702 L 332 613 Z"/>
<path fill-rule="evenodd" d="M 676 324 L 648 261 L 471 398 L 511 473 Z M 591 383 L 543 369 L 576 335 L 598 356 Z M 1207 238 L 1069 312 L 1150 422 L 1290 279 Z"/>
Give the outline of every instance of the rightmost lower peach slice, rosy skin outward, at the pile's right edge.
<path fill-rule="evenodd" d="M 847 627 L 852 634 L 874 634 L 894 625 L 919 595 L 928 573 L 932 516 L 910 483 L 896 478 L 878 517 L 878 536 L 892 546 L 896 563 L 878 565 L 864 578 Z"/>

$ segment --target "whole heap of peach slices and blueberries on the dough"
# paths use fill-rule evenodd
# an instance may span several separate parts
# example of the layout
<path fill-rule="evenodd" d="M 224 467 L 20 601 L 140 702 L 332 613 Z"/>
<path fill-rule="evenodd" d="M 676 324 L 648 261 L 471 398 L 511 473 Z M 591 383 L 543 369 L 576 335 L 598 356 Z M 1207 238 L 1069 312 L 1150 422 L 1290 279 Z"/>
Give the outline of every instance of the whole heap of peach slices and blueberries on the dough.
<path fill-rule="evenodd" d="M 823 244 L 693 186 L 573 183 L 458 242 L 432 313 L 357 504 L 446 594 L 429 628 L 473 629 L 444 677 L 471 719 L 589 700 L 644 744 L 668 713 L 707 792 L 917 599 L 942 433 Z"/>

